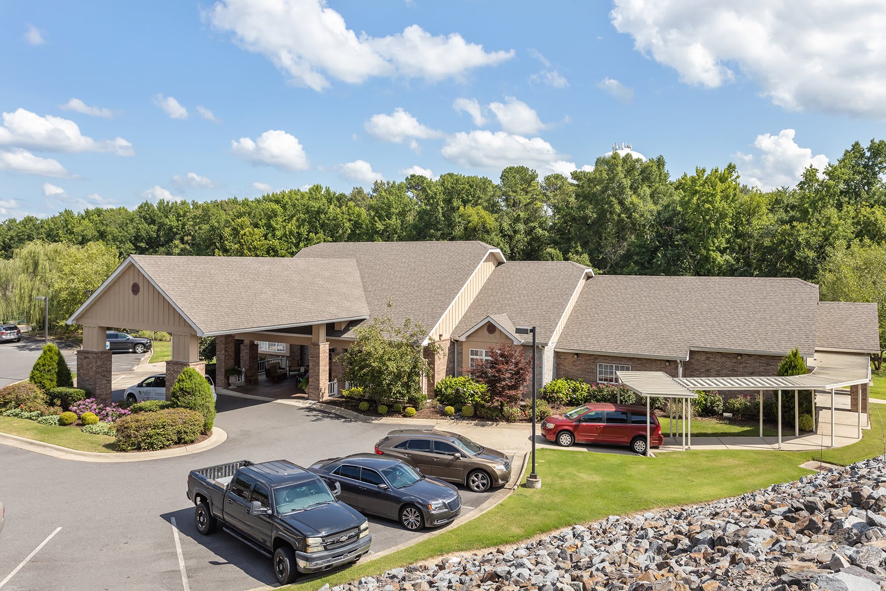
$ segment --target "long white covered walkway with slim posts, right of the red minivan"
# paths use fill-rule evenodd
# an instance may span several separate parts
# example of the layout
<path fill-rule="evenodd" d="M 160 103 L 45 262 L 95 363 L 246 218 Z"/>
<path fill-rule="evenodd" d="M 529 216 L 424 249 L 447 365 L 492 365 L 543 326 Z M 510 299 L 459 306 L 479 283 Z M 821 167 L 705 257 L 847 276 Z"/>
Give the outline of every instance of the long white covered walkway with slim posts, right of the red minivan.
<path fill-rule="evenodd" d="M 647 398 L 662 396 L 663 391 L 672 391 L 674 396 L 680 392 L 757 392 L 759 393 L 759 437 L 764 439 L 763 432 L 763 398 L 766 392 L 774 393 L 778 401 L 777 421 L 778 449 L 782 449 L 785 443 L 784 425 L 781 419 L 782 393 L 793 393 L 794 402 L 794 425 L 793 438 L 803 439 L 799 429 L 799 400 L 801 395 L 812 398 L 812 420 L 815 437 L 820 440 L 818 445 L 836 447 L 836 431 L 840 427 L 835 416 L 838 414 L 853 416 L 853 429 L 855 437 L 861 439 L 862 428 L 868 424 L 868 387 L 871 381 L 870 361 L 867 354 L 842 353 L 833 351 L 816 351 L 814 356 L 806 360 L 806 364 L 812 370 L 801 376 L 773 376 L 773 377 L 671 377 L 664 372 L 657 371 L 622 371 L 618 372 L 621 385 L 625 385 L 633 392 Z M 839 391 L 839 393 L 838 393 Z M 850 404 L 849 411 L 839 409 L 837 396 L 845 398 L 848 395 Z M 828 400 L 829 399 L 829 400 Z M 817 408 L 816 401 L 828 402 L 827 412 L 823 408 Z M 828 415 L 829 424 L 820 424 L 817 420 L 818 412 Z M 691 418 L 691 409 L 688 415 Z M 828 428 L 828 435 L 822 435 L 823 429 Z M 808 436 L 807 436 L 808 437 Z M 829 439 L 829 440 L 828 440 Z M 847 439 L 845 437 L 841 439 Z M 789 440 L 788 440 L 789 441 Z M 691 439 L 689 439 L 691 446 Z M 845 443 L 843 443 L 845 444 Z M 685 447 L 684 447 L 685 448 Z"/>

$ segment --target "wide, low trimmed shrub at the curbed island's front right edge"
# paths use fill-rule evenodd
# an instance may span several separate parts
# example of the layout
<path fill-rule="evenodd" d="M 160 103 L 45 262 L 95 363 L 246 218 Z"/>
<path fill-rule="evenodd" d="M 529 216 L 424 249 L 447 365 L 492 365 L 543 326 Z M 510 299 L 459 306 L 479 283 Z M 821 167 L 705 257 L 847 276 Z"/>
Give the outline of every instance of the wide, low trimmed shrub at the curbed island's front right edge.
<path fill-rule="evenodd" d="M 203 431 L 203 425 L 204 416 L 195 410 L 164 408 L 124 416 L 114 423 L 114 429 L 117 447 L 122 451 L 152 451 L 193 443 Z"/>

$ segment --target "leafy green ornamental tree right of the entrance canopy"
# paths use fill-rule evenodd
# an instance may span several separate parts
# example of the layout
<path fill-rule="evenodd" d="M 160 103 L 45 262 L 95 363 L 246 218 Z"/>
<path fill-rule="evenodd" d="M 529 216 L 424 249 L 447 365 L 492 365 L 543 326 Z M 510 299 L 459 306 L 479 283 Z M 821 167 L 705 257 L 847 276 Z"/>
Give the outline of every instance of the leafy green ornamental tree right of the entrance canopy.
<path fill-rule="evenodd" d="M 422 342 L 428 336 L 427 330 L 409 318 L 397 326 L 390 315 L 385 315 L 355 332 L 354 346 L 338 356 L 345 368 L 345 379 L 359 385 L 365 396 L 377 402 L 424 406 L 422 380 L 428 373 L 428 362 Z M 436 354 L 439 346 L 431 341 L 424 350 Z"/>

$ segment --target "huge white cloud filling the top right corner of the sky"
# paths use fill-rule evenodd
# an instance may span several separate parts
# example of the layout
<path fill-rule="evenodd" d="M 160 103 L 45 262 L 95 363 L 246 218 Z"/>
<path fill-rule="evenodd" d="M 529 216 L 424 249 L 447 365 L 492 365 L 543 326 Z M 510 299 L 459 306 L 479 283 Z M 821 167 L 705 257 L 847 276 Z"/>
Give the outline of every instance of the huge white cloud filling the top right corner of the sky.
<path fill-rule="evenodd" d="M 886 3 L 615 0 L 612 24 L 680 80 L 739 77 L 789 110 L 886 118 Z"/>

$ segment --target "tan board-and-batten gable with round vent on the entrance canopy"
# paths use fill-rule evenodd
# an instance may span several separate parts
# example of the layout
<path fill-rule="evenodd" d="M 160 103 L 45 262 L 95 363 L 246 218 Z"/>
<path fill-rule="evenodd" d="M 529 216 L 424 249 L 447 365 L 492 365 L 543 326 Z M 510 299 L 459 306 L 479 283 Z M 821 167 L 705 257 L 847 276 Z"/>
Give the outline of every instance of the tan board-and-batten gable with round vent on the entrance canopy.
<path fill-rule="evenodd" d="M 132 284 L 138 284 L 137 295 L 132 293 Z M 107 328 L 197 334 L 135 265 L 123 269 L 76 322 Z"/>

